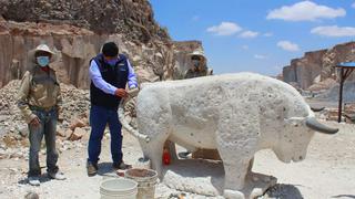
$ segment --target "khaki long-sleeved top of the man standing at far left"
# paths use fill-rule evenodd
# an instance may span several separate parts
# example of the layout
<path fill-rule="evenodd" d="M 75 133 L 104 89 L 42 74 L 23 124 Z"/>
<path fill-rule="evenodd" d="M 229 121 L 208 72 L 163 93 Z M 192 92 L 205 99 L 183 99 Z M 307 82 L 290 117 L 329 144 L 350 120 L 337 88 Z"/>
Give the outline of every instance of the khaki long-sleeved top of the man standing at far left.
<path fill-rule="evenodd" d="M 37 117 L 32 113 L 33 108 L 59 109 L 62 98 L 54 70 L 50 69 L 49 72 L 44 72 L 34 64 L 32 70 L 27 71 L 22 77 L 17 103 L 28 124 Z"/>

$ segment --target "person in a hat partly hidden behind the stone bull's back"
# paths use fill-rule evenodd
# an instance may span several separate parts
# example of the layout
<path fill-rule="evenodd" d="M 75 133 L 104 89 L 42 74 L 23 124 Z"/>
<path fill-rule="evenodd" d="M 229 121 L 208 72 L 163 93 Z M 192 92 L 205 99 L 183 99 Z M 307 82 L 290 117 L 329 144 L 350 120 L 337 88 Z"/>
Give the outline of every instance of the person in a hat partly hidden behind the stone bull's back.
<path fill-rule="evenodd" d="M 207 69 L 206 57 L 200 50 L 191 53 L 190 57 L 192 66 L 184 74 L 184 78 L 212 75 L 213 71 Z"/>

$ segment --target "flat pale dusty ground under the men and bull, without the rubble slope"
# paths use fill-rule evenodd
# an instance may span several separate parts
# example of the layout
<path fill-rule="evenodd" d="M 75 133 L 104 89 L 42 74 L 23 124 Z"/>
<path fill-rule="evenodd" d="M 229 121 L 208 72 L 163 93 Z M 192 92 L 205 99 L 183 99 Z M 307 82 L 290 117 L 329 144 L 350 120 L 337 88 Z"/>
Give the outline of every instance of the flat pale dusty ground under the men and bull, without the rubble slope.
<path fill-rule="evenodd" d="M 256 154 L 253 171 L 278 179 L 278 184 L 261 198 L 355 198 L 355 126 L 336 123 L 331 125 L 338 126 L 341 132 L 334 136 L 316 134 L 307 157 L 302 163 L 283 164 L 270 150 Z M 88 177 L 85 172 L 87 139 L 88 135 L 75 143 L 75 147 L 60 155 L 59 166 L 68 177 L 64 181 L 50 180 L 43 175 L 41 186 L 31 187 L 26 179 L 28 160 L 1 159 L 0 198 L 23 198 L 29 191 L 50 199 L 100 198 L 100 182 L 112 175 L 109 137 L 103 140 L 100 170 L 95 177 Z M 125 161 L 133 165 L 142 156 L 138 140 L 126 134 L 123 151 Z M 41 155 L 41 165 L 44 166 L 44 155 Z M 45 169 L 42 171 L 45 172 Z M 155 198 L 175 198 L 181 193 L 160 184 Z M 189 192 L 185 196 L 209 198 Z"/>

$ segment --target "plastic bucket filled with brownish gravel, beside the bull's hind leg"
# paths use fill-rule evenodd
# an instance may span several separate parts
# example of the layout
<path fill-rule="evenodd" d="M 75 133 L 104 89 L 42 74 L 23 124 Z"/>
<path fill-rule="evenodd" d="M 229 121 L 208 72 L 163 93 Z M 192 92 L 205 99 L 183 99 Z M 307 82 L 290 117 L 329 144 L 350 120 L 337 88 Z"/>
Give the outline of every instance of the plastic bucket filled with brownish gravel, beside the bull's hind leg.
<path fill-rule="evenodd" d="M 124 172 L 124 177 L 138 182 L 136 199 L 152 199 L 155 193 L 158 174 L 152 169 L 132 168 Z"/>

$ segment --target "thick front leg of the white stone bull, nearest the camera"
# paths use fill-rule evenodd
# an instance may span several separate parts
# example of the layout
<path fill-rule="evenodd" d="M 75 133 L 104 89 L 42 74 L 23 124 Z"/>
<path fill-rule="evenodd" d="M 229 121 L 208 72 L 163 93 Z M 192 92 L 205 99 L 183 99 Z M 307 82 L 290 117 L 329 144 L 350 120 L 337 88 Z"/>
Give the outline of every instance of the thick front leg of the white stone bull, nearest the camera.
<path fill-rule="evenodd" d="M 250 161 L 257 150 L 258 117 L 252 106 L 236 106 L 244 102 L 226 102 L 221 106 L 216 140 L 224 171 L 224 197 L 243 198 L 241 192 Z"/>

